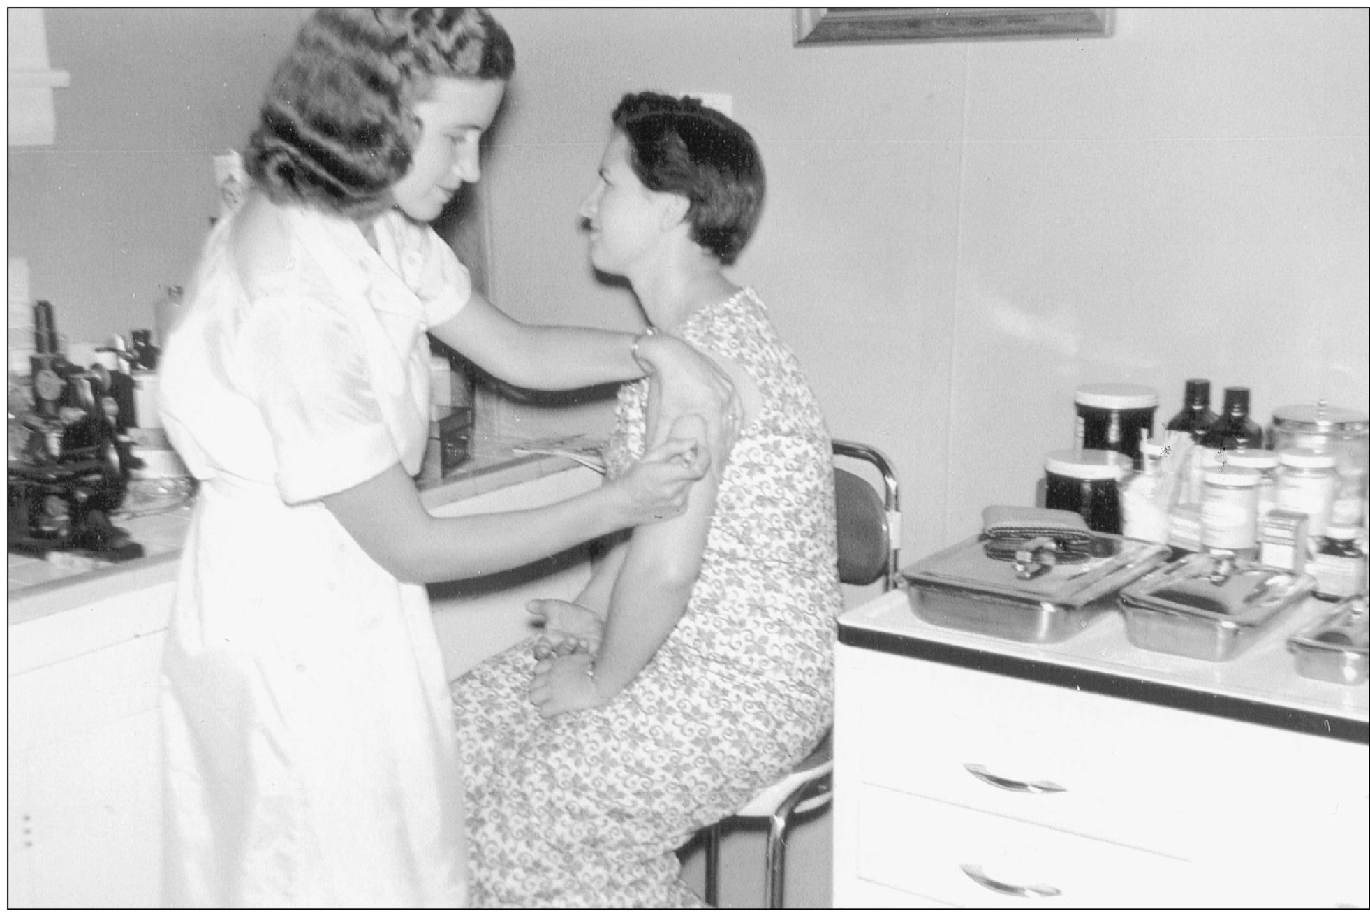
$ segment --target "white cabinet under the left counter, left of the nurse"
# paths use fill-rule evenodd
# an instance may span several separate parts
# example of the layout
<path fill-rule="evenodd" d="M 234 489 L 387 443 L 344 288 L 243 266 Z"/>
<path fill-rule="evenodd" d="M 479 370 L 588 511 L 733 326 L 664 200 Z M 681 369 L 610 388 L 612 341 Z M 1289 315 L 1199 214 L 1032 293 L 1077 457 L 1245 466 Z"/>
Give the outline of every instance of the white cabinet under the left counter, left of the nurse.
<path fill-rule="evenodd" d="M 163 584 L 11 628 L 11 907 L 158 903 L 170 603 Z M 97 630 L 105 643 L 92 648 Z"/>

